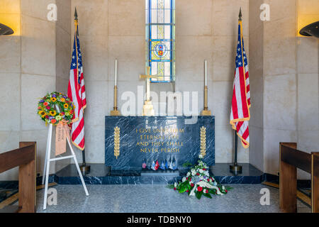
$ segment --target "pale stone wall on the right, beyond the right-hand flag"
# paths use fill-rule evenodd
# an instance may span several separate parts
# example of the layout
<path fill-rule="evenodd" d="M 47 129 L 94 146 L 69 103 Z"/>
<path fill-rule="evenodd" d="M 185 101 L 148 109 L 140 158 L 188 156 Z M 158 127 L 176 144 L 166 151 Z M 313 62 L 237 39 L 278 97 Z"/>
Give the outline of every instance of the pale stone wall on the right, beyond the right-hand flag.
<path fill-rule="evenodd" d="M 260 11 L 255 11 L 262 2 L 250 1 L 250 78 L 255 89 L 252 104 L 257 105 L 252 107 L 250 163 L 277 175 L 279 142 L 296 142 L 306 152 L 319 149 L 318 38 L 298 34 L 319 20 L 319 5 L 297 0 L 264 3 L 271 16 L 262 22 Z M 298 178 L 309 175 L 300 171 Z"/>

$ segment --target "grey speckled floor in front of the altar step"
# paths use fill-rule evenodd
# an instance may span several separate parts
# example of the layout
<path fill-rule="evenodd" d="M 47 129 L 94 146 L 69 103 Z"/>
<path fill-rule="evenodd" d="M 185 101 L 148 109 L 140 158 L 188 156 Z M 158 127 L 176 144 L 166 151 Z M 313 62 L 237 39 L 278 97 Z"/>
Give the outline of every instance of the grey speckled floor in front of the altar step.
<path fill-rule="evenodd" d="M 162 184 L 136 185 L 87 185 L 85 196 L 82 185 L 57 185 L 57 205 L 43 211 L 44 190 L 37 192 L 37 212 L 104 212 L 104 213 L 151 213 L 151 212 L 280 212 L 279 190 L 262 184 L 230 184 L 233 189 L 223 196 L 201 200 L 167 189 Z M 270 204 L 259 202 L 260 190 L 269 189 Z M 298 201 L 298 212 L 310 212 L 310 208 Z"/>

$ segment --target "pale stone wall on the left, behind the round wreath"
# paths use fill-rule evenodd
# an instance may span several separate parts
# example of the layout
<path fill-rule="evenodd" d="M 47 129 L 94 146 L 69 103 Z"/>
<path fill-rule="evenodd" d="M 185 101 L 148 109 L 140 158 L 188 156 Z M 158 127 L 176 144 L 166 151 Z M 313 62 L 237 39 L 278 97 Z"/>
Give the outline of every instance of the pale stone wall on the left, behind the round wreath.
<path fill-rule="evenodd" d="M 4 152 L 18 148 L 19 141 L 37 141 L 37 172 L 42 173 L 47 127 L 43 121 L 40 121 L 36 109 L 38 101 L 47 92 L 56 89 L 65 91 L 61 88 L 58 82 L 61 80 L 57 79 L 57 75 L 61 77 L 62 74 L 69 74 L 69 63 L 65 62 L 69 62 L 67 42 L 69 42 L 70 2 L 1 0 L 0 3 L 2 13 L 9 14 L 2 16 L 7 20 L 12 18 L 11 28 L 15 31 L 14 35 L 0 37 L 0 45 L 3 46 L 0 56 L 0 105 L 1 120 L 4 122 L 0 126 L 0 150 Z M 47 20 L 47 5 L 51 3 L 60 6 L 58 11 L 60 22 Z M 63 29 L 66 34 L 61 31 Z M 66 45 L 67 51 L 63 51 L 62 45 Z M 54 149 L 54 136 L 52 144 Z M 50 172 L 55 172 L 54 163 Z M 0 175 L 0 179 L 17 179 L 17 177 L 17 169 Z"/>

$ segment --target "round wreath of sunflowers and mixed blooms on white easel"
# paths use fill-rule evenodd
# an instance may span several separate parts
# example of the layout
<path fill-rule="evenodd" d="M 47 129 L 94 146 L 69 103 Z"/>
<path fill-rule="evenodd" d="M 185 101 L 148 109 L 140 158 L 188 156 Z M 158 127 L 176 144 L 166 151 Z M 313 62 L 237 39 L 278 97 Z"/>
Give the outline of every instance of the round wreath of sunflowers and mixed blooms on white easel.
<path fill-rule="evenodd" d="M 38 115 L 45 121 L 56 126 L 60 121 L 72 123 L 74 104 L 60 92 L 47 94 L 38 102 Z"/>

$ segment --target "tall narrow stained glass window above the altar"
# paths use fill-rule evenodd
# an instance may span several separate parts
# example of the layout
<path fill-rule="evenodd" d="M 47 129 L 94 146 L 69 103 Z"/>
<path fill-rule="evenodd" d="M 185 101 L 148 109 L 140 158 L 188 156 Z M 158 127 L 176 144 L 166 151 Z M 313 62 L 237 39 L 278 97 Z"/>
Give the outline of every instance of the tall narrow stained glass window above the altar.
<path fill-rule="evenodd" d="M 175 81 L 175 0 L 145 0 L 146 66 L 159 76 L 151 82 Z"/>

